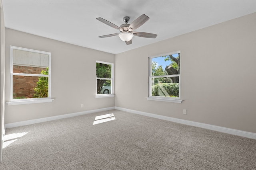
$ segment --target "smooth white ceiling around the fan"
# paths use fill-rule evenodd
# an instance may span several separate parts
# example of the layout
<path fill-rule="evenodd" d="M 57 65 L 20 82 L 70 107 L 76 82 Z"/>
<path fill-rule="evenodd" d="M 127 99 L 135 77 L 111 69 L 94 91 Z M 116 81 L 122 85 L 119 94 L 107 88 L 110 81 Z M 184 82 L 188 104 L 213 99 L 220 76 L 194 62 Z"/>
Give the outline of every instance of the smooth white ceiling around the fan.
<path fill-rule="evenodd" d="M 5 26 L 82 47 L 118 54 L 164 39 L 256 12 L 255 0 L 2 0 Z M 158 34 L 133 37 L 126 45 L 115 25 L 146 14 L 150 19 L 135 31 Z"/>

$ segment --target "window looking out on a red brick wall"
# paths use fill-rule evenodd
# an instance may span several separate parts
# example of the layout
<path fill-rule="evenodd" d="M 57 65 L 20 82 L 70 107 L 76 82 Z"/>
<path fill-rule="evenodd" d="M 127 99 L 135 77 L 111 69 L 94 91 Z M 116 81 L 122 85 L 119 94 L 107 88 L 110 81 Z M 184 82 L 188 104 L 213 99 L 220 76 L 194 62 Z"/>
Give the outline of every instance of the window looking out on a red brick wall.
<path fill-rule="evenodd" d="M 10 102 L 52 102 L 51 53 L 10 46 Z"/>

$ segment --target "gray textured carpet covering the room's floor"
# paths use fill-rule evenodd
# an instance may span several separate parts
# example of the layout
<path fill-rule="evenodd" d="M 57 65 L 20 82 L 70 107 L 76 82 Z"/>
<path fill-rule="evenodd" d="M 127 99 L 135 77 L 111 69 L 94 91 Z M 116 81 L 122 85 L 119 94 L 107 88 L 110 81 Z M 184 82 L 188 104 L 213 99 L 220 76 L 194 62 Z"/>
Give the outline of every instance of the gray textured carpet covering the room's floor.
<path fill-rule="evenodd" d="M 95 116 L 115 120 L 92 125 Z M 119 110 L 6 129 L 0 170 L 256 170 L 256 140 Z"/>

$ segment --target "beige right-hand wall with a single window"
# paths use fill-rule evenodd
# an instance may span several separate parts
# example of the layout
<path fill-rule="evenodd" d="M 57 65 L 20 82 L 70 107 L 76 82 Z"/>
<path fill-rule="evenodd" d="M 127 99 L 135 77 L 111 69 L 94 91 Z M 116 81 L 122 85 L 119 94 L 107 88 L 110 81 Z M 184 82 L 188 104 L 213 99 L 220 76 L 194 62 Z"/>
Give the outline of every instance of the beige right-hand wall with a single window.
<path fill-rule="evenodd" d="M 148 101 L 148 57 L 172 51 L 184 102 Z M 115 106 L 256 133 L 256 13 L 116 55 Z"/>

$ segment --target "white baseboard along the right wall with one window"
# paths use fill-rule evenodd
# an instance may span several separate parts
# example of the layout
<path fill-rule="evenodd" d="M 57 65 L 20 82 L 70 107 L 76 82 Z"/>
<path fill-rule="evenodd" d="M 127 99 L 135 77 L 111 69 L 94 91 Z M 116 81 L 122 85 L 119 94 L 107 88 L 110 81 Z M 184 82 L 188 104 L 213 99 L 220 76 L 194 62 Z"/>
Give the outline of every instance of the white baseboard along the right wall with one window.
<path fill-rule="evenodd" d="M 122 107 L 115 107 L 115 109 L 121 110 L 121 111 L 127 111 L 127 112 L 130 112 L 130 113 L 135 113 L 135 114 L 139 114 L 139 115 L 144 115 L 144 116 L 148 116 L 148 117 L 154 117 L 154 118 L 157 118 L 157 119 L 173 121 L 173 122 L 176 122 L 176 123 L 182 123 L 182 124 L 185 124 L 185 125 L 202 127 L 204 129 L 210 129 L 210 130 L 219 131 L 219 132 L 223 132 L 223 133 L 228 133 L 228 134 L 232 134 L 232 135 L 238 135 L 238 136 L 242 136 L 242 137 L 248 137 L 248 138 L 256 139 L 256 133 L 240 131 L 240 130 L 236 130 L 236 129 L 230 129 L 230 128 L 220 127 L 220 126 L 215 126 L 215 125 L 209 125 L 209 124 L 205 124 L 205 123 L 198 123 L 198 122 L 195 122 L 195 121 L 188 121 L 188 120 L 184 120 L 184 119 L 177 119 L 177 118 L 163 116 L 163 115 L 156 115 L 156 114 L 146 113 L 146 112 L 142 112 L 142 111 L 125 109 L 125 108 L 122 108 Z"/>

